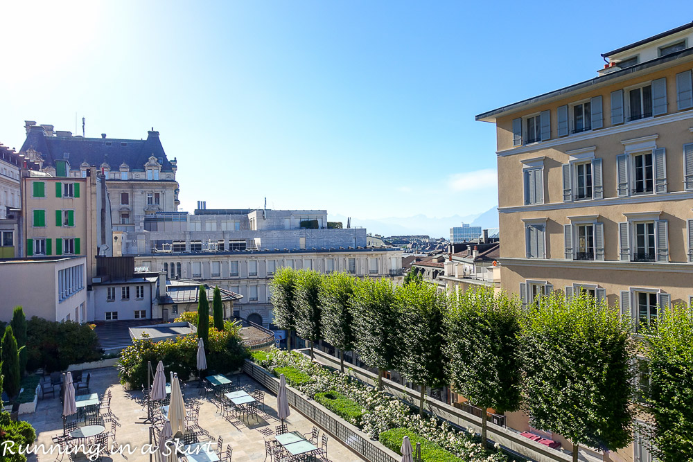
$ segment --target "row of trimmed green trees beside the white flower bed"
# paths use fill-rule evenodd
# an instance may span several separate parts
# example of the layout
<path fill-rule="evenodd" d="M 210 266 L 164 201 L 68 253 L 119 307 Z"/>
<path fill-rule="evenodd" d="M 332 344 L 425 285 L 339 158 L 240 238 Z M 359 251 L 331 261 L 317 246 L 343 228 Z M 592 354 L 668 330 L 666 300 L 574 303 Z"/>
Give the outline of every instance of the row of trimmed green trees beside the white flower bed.
<path fill-rule="evenodd" d="M 619 310 L 596 303 L 586 293 L 569 300 L 552 294 L 523 309 L 518 299 L 494 296 L 484 288 L 444 294 L 416 278 L 396 287 L 387 280 L 284 268 L 272 281 L 272 303 L 274 323 L 310 341 L 311 355 L 312 343 L 324 339 L 341 351 L 342 371 L 345 350 L 355 350 L 362 362 L 378 368 L 379 389 L 387 370 L 397 370 L 420 384 L 421 412 L 426 387 L 450 384 L 482 409 L 499 414 L 525 411 L 532 426 L 569 438 L 575 460 L 578 445 L 613 451 L 632 440 L 633 362 L 638 345 Z M 688 368 L 682 376 L 679 370 L 678 382 L 658 391 L 655 382 L 672 380 L 669 370 L 675 362 L 661 359 L 671 348 L 654 348 L 657 341 L 673 343 L 660 335 L 666 325 L 662 321 L 652 326 L 646 336 L 652 348 L 644 348 L 644 354 L 657 355 L 650 368 L 659 368 L 660 373 L 650 373 L 651 391 L 662 398 L 652 398 L 651 404 L 667 402 L 669 408 L 663 402 L 658 406 L 676 425 L 665 424 L 664 416 L 657 423 L 676 434 L 680 451 L 682 436 L 676 432 L 682 428 L 682 416 L 672 416 L 670 408 L 681 402 L 681 380 L 690 380 L 691 371 Z M 688 335 L 679 335 L 678 344 L 690 344 L 690 327 L 689 323 L 687 330 L 678 331 Z M 693 355 L 687 361 L 691 366 Z M 691 382 L 687 383 L 690 391 Z M 693 403 L 689 404 L 678 411 L 686 414 L 688 432 L 693 421 L 688 415 Z M 485 442 L 486 412 L 482 416 Z M 674 434 L 660 432 L 673 446 Z M 693 441 L 692 434 L 687 434 L 687 441 Z M 657 436 L 656 442 L 661 450 Z"/>

